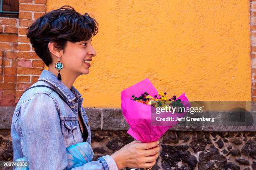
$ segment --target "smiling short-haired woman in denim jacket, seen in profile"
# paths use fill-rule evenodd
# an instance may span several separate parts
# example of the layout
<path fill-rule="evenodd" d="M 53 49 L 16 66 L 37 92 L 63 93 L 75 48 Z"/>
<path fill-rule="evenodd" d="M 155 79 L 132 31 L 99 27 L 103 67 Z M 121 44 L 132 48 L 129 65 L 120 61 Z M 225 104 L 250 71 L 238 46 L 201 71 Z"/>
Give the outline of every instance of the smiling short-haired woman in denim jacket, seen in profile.
<path fill-rule="evenodd" d="M 29 89 L 15 107 L 11 125 L 13 160 L 25 158 L 30 170 L 67 169 L 66 148 L 82 142 L 91 144 L 83 98 L 73 83 L 79 75 L 89 73 L 90 62 L 96 56 L 91 41 L 97 31 L 94 18 L 87 13 L 81 15 L 70 6 L 46 13 L 28 28 L 27 36 L 36 54 L 49 67 L 32 87 L 45 85 L 54 89 Z M 113 155 L 72 170 L 150 168 L 156 163 L 159 150 L 158 141 L 135 140 Z M 85 154 L 93 155 L 93 151 L 88 149 Z"/>

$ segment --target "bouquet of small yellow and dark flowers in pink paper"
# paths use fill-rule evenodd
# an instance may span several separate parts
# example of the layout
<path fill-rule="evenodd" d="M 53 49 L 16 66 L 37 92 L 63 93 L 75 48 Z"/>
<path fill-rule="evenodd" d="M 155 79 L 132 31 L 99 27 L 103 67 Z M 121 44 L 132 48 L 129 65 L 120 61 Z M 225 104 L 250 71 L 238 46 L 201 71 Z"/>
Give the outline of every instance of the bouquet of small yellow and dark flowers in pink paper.
<path fill-rule="evenodd" d="M 184 102 L 188 102 L 188 99 L 185 93 L 183 93 L 177 98 L 174 95 L 167 100 L 166 94 L 166 92 L 157 92 L 148 79 L 142 80 L 121 92 L 121 109 L 126 122 L 130 125 L 127 131 L 129 135 L 143 143 L 154 142 L 159 140 L 161 136 L 172 127 L 170 125 L 151 125 L 151 107 L 184 107 L 184 105 L 186 105 Z M 154 97 L 152 97 L 152 95 L 154 95 Z M 184 114 L 185 113 L 175 113 L 171 116 L 181 117 Z M 177 125 L 179 121 L 172 123 L 174 126 Z M 148 170 L 150 169 L 151 168 Z"/>

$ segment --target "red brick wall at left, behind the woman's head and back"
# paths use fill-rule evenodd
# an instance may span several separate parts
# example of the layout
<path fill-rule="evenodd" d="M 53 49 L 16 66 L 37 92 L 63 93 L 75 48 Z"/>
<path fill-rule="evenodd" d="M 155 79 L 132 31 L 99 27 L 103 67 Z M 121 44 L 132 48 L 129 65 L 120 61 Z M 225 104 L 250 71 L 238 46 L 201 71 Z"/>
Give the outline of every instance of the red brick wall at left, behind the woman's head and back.
<path fill-rule="evenodd" d="M 26 28 L 45 12 L 46 0 L 20 0 L 19 18 L 0 18 L 0 106 L 15 106 L 44 70 Z"/>

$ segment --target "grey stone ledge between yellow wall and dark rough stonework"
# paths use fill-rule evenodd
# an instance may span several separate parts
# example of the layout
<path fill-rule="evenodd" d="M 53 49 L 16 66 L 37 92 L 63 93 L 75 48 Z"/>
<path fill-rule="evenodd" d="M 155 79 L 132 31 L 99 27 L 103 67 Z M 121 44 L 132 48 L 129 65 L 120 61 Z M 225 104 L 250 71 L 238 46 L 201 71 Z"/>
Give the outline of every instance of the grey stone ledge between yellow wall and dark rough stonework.
<path fill-rule="evenodd" d="M 0 129 L 8 130 L 11 126 L 15 107 L 0 107 Z M 84 108 L 90 121 L 91 130 L 128 130 L 121 109 L 116 108 Z M 200 117 L 202 115 L 189 115 Z M 204 117 L 230 120 L 216 122 L 188 122 L 184 121 L 170 130 L 174 131 L 205 131 L 205 132 L 256 132 L 256 112 L 248 112 L 242 117 L 243 121 L 234 120 L 234 115 L 225 111 L 203 113 Z M 230 117 L 230 118 L 229 118 Z M 228 119 L 227 119 L 228 118 Z M 241 117 L 240 117 L 241 118 Z M 232 121 L 233 120 L 233 121 Z M 230 123 L 231 122 L 231 123 Z"/>

